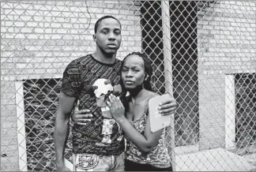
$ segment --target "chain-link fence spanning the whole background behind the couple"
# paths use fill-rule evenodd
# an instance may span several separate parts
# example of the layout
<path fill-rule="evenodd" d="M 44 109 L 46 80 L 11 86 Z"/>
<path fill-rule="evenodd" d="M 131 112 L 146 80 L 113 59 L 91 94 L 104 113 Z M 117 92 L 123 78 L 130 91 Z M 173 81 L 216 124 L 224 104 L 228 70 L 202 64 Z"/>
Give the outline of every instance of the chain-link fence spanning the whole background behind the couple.
<path fill-rule="evenodd" d="M 175 170 L 255 170 L 254 1 L 2 1 L 1 170 L 55 170 L 62 72 L 96 49 L 107 14 L 122 24 L 117 57 L 148 54 L 154 89 L 178 103 Z"/>

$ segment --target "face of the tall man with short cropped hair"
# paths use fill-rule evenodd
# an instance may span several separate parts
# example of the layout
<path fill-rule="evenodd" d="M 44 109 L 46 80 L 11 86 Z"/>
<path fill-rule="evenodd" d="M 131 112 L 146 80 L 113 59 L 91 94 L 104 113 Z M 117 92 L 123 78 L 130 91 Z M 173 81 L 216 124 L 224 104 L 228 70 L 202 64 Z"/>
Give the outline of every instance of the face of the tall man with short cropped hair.
<path fill-rule="evenodd" d="M 100 22 L 94 36 L 100 50 L 107 54 L 115 54 L 119 50 L 121 40 L 121 26 L 118 21 L 107 18 Z"/>

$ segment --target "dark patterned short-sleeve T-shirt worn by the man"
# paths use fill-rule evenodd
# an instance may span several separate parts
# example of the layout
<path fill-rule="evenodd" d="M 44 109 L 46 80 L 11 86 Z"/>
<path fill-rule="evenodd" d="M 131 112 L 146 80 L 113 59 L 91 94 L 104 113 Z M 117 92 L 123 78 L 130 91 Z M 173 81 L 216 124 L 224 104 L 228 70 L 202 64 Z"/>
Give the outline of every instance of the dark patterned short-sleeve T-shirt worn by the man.
<path fill-rule="evenodd" d="M 114 64 L 104 64 L 93 58 L 92 54 L 77 58 L 67 65 L 61 91 L 79 99 L 78 109 L 89 109 L 93 115 L 92 121 L 86 125 L 73 125 L 73 153 L 119 155 L 124 151 L 122 129 L 113 118 L 104 118 L 103 113 L 109 114 L 109 110 L 97 103 L 101 98 L 96 97 L 94 85 L 96 80 L 104 79 L 111 80 L 114 87 L 119 85 L 121 65 L 118 59 Z"/>

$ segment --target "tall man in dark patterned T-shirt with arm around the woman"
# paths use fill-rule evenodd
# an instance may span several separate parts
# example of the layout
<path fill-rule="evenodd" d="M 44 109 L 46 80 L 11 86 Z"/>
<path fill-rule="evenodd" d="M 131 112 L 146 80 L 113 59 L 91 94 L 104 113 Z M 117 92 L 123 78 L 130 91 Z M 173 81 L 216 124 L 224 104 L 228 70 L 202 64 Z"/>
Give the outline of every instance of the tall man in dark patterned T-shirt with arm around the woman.
<path fill-rule="evenodd" d="M 73 60 L 63 73 L 55 121 L 56 166 L 60 171 L 69 170 L 64 165 L 63 155 L 70 114 L 77 100 L 80 102 L 77 112 L 80 117 L 72 129 L 73 165 L 76 170 L 124 170 L 122 130 L 114 119 L 107 117 L 107 108 L 98 106 L 102 94 L 97 91 L 97 84 L 102 83 L 102 79 L 105 79 L 104 83 L 111 80 L 114 85 L 104 97 L 119 85 L 122 62 L 116 59 L 116 52 L 122 40 L 121 24 L 115 17 L 101 17 L 96 21 L 94 31 L 96 52 Z M 175 102 L 168 101 L 162 108 L 167 114 L 172 114 L 175 106 Z"/>

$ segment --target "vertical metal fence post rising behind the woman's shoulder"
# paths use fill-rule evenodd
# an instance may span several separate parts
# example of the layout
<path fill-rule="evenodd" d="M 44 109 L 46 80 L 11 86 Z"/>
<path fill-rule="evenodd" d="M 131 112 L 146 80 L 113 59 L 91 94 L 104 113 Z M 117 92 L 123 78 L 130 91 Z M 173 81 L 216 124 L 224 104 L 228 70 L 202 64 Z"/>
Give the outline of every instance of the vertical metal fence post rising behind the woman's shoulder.
<path fill-rule="evenodd" d="M 172 91 L 172 65 L 171 65 L 171 24 L 170 24 L 170 6 L 169 1 L 161 1 L 162 23 L 163 23 L 163 42 L 164 42 L 164 77 L 165 88 L 173 96 Z M 174 116 L 171 116 L 171 126 L 168 127 L 167 135 L 168 154 L 171 155 L 171 166 L 175 171 L 175 122 Z"/>

